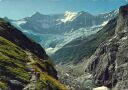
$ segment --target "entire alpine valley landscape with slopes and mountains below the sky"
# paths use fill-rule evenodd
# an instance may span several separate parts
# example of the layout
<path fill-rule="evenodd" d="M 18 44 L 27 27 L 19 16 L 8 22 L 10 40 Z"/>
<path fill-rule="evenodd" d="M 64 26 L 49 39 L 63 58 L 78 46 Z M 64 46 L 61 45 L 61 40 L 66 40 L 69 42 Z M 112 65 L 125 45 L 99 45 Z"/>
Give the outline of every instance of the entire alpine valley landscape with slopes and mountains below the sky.
<path fill-rule="evenodd" d="M 0 18 L 0 55 L 1 90 L 127 90 L 128 5 Z"/>

